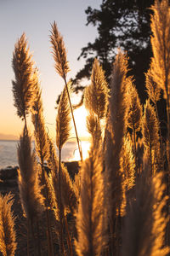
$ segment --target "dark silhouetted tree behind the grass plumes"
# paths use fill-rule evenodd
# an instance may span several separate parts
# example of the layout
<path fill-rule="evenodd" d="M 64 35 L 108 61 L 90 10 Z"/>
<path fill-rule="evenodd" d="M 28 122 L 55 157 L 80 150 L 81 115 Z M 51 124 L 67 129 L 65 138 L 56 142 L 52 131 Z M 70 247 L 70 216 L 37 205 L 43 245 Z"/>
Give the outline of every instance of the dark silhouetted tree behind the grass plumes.
<path fill-rule="evenodd" d="M 83 78 L 89 78 L 94 57 L 97 57 L 105 70 L 106 79 L 111 76 L 112 62 L 117 48 L 127 51 L 129 74 L 134 76 L 142 102 L 145 98 L 144 72 L 150 65 L 150 6 L 154 0 L 102 0 L 100 9 L 88 7 L 85 10 L 87 26 L 97 26 L 98 38 L 94 43 L 82 48 L 80 58 L 86 60 L 85 66 L 77 73 L 75 90 Z"/>

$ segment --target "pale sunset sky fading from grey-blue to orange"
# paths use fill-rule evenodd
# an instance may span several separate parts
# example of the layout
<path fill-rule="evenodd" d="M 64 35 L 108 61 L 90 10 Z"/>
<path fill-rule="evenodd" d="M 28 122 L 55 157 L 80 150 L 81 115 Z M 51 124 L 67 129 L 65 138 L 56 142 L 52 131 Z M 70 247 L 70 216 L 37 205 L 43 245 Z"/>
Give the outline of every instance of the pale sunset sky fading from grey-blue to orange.
<path fill-rule="evenodd" d="M 55 135 L 55 101 L 63 90 L 63 80 L 54 70 L 49 35 L 54 20 L 62 34 L 67 49 L 67 58 L 74 78 L 85 61 L 77 61 L 82 47 L 97 37 L 94 26 L 86 26 L 88 6 L 99 9 L 102 0 L 0 0 L 0 139 L 20 137 L 23 123 L 16 115 L 12 83 L 14 71 L 11 65 L 14 44 L 23 32 L 30 46 L 33 60 L 40 73 L 42 102 L 47 129 Z M 74 101 L 74 98 L 72 98 Z M 77 110 L 75 118 L 81 137 L 86 137 L 84 110 Z M 82 119 L 83 117 L 83 119 Z M 30 122 L 30 129 L 31 122 Z"/>

